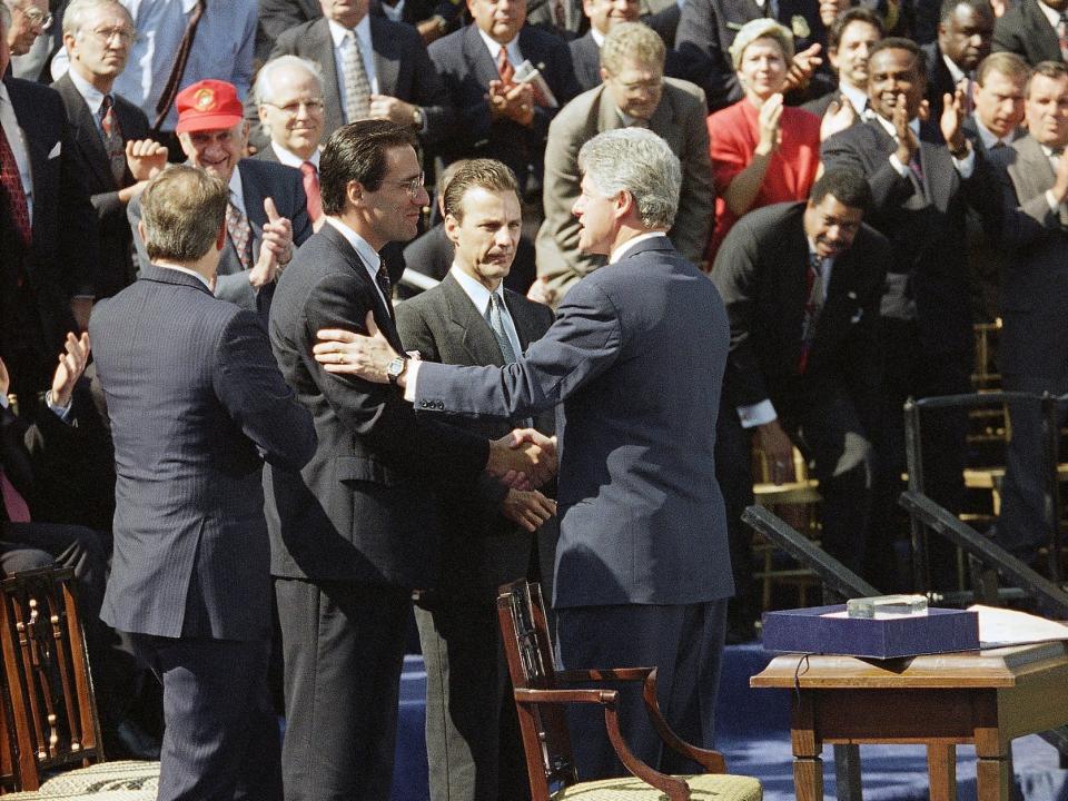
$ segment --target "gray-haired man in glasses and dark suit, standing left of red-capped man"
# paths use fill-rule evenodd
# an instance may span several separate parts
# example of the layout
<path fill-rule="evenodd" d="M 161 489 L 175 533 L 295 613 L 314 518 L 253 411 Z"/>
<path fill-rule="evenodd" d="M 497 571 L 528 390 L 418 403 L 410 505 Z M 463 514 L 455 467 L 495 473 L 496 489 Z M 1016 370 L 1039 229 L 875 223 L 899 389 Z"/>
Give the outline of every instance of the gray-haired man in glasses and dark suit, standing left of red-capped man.
<path fill-rule="evenodd" d="M 134 21 L 118 0 L 73 0 L 63 16 L 70 69 L 52 83 L 67 108 L 72 157 L 97 211 L 97 297 L 110 297 L 137 278 L 126 207 L 144 188 L 148 175 L 130 171 L 126 142 L 148 137 L 148 119 L 112 91 L 115 79 L 126 68 L 134 32 Z"/>

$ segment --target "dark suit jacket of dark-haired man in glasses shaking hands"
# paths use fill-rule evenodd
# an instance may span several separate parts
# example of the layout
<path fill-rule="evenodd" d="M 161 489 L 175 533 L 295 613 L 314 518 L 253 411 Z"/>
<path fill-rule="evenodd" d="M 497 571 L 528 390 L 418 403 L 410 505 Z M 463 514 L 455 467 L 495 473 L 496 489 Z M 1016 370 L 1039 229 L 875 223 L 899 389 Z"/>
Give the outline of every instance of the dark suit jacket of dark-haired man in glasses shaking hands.
<path fill-rule="evenodd" d="M 359 255 L 328 222 L 283 273 L 270 313 L 275 356 L 319 436 L 299 474 L 270 472 L 271 572 L 425 589 L 438 576 L 432 491 L 469 493 L 488 449 L 485 438 L 417 418 L 394 387 L 330 375 L 313 358 L 319 328 L 363 332 L 369 310 L 402 350 Z"/>

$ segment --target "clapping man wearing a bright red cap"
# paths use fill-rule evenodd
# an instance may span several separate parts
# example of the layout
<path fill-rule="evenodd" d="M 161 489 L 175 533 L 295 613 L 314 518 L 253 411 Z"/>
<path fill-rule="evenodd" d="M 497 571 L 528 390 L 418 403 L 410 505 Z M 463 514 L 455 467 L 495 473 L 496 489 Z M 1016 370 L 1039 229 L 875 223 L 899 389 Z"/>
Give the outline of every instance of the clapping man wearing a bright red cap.
<path fill-rule="evenodd" d="M 175 105 L 175 130 L 188 162 L 229 186 L 226 247 L 219 260 L 215 294 L 266 314 L 278 273 L 289 263 L 294 247 L 312 236 L 300 172 L 243 158 L 248 123 L 233 83 L 198 81 L 182 89 Z M 166 164 L 166 149 L 151 141 L 135 142 L 129 152 L 134 166 L 139 166 L 136 162 L 140 160 L 150 160 L 160 168 Z M 128 216 L 144 269 L 149 259 L 137 230 L 141 216 L 138 198 L 130 201 Z"/>

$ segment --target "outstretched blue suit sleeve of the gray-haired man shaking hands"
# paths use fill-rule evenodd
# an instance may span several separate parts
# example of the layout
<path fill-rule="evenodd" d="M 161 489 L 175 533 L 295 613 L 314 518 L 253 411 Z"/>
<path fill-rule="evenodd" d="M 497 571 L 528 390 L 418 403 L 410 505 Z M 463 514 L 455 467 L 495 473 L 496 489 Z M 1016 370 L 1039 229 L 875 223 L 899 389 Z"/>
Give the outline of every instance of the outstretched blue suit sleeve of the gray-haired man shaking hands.
<path fill-rule="evenodd" d="M 624 345 L 612 301 L 592 278 L 561 304 L 556 322 L 504 367 L 419 367 L 415 407 L 472 417 L 527 416 L 565 400 L 609 369 Z"/>

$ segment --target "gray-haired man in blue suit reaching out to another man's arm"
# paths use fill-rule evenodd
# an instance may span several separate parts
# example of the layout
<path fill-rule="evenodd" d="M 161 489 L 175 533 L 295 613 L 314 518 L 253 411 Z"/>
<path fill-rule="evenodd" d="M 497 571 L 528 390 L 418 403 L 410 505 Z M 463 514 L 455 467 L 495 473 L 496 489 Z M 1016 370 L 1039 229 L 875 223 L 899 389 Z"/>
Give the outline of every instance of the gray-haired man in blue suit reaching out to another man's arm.
<path fill-rule="evenodd" d="M 563 666 L 656 666 L 669 724 L 708 748 L 734 592 L 713 457 L 726 313 L 666 237 L 682 169 L 663 139 L 605 131 L 583 146 L 578 167 L 578 247 L 609 264 L 575 285 L 548 332 L 504 367 L 409 360 L 389 375 L 426 414 L 522 417 L 556 406 Z M 369 330 L 320 332 L 316 357 L 328 372 L 385 383 L 404 356 Z M 691 772 L 661 753 L 636 689 L 621 692 L 620 719 L 641 759 Z M 572 743 L 583 779 L 623 773 L 600 711 L 575 716 Z"/>

